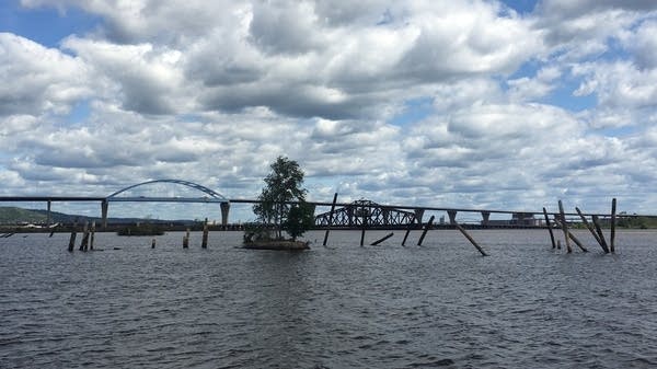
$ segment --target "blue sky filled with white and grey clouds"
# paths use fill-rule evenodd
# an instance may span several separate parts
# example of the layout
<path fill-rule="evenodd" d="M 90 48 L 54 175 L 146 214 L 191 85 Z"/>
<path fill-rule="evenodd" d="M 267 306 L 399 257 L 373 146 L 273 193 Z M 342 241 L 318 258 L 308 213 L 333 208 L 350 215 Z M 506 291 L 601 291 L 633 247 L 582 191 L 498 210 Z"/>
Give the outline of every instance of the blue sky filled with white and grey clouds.
<path fill-rule="evenodd" d="M 3 0 L 0 80 L 0 196 L 255 198 L 287 155 L 318 201 L 657 214 L 654 0 Z"/>

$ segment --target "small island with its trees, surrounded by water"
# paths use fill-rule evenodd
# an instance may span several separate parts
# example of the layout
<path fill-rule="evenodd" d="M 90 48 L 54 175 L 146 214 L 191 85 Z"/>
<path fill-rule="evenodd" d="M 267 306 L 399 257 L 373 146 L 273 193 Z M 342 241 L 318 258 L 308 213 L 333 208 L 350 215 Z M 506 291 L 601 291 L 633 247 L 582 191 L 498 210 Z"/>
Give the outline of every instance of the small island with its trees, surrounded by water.
<path fill-rule="evenodd" d="M 299 163 L 278 157 L 265 177 L 265 187 L 253 206 L 257 221 L 245 224 L 243 247 L 254 250 L 298 251 L 310 249 L 310 242 L 298 241 L 313 223 L 314 208 L 306 203 L 307 189 Z M 289 239 L 284 237 L 284 232 Z"/>

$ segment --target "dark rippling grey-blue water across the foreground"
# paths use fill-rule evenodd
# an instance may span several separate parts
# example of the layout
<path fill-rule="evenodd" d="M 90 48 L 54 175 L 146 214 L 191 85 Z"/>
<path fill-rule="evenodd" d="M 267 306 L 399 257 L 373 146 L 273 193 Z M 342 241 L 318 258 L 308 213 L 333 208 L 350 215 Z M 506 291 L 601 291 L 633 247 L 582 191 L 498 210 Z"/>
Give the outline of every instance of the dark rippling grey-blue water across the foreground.
<path fill-rule="evenodd" d="M 0 239 L 1 368 L 648 368 L 657 232 L 567 255 L 546 231 L 431 231 L 423 247 L 311 232 L 300 253 L 240 232 Z M 373 242 L 385 232 L 368 232 Z M 120 250 L 114 250 L 120 247 Z"/>

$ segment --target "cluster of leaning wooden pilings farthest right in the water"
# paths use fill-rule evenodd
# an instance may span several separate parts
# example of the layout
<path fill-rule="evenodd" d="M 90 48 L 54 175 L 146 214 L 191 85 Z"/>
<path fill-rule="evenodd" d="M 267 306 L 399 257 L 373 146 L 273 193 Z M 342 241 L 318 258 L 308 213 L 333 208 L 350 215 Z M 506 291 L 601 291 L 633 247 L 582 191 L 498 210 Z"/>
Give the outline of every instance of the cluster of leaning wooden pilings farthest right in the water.
<path fill-rule="evenodd" d="M 611 200 L 611 221 L 610 221 L 610 235 L 609 243 L 604 238 L 604 233 L 602 232 L 602 227 L 600 226 L 600 219 L 597 215 L 591 215 L 591 222 L 587 219 L 587 217 L 581 212 L 578 207 L 575 207 L 577 215 L 581 219 L 583 224 L 589 230 L 593 239 L 598 242 L 600 247 L 606 254 L 615 253 L 615 223 L 616 223 L 616 199 L 613 198 Z M 558 200 L 558 214 L 553 214 L 552 222 L 550 220 L 550 216 L 548 210 L 543 208 L 543 216 L 545 217 L 545 224 L 548 226 L 548 230 L 550 231 L 550 240 L 552 241 L 552 249 L 561 250 L 562 244 L 561 240 L 555 240 L 554 232 L 552 229 L 552 223 L 555 224 L 555 228 L 561 228 L 564 233 L 564 243 L 566 247 L 566 252 L 569 254 L 573 252 L 573 247 L 570 246 L 570 241 L 573 241 L 583 252 L 588 252 L 588 250 L 584 246 L 581 241 L 568 230 L 568 222 L 566 221 L 566 217 L 564 214 L 564 206 L 562 200 Z M 592 223 L 592 224 L 591 224 Z"/>

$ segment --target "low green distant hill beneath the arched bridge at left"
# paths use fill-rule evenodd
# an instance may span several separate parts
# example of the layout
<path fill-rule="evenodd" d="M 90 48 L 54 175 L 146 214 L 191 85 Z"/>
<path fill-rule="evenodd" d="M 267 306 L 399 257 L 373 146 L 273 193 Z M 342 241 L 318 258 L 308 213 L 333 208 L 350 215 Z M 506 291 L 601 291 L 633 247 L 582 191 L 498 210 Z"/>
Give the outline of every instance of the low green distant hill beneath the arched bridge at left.
<path fill-rule="evenodd" d="M 100 217 L 87 217 L 78 215 L 69 215 L 64 212 L 50 211 L 51 223 L 72 223 L 84 221 L 96 221 L 100 222 Z M 0 224 L 45 224 L 48 221 L 48 211 L 43 209 L 23 209 L 10 206 L 0 206 Z M 150 223 L 193 223 L 193 220 L 160 220 L 160 219 L 142 219 L 142 218 L 108 218 L 108 223 L 120 224 L 120 223 L 136 223 L 136 222 L 150 222 Z"/>

